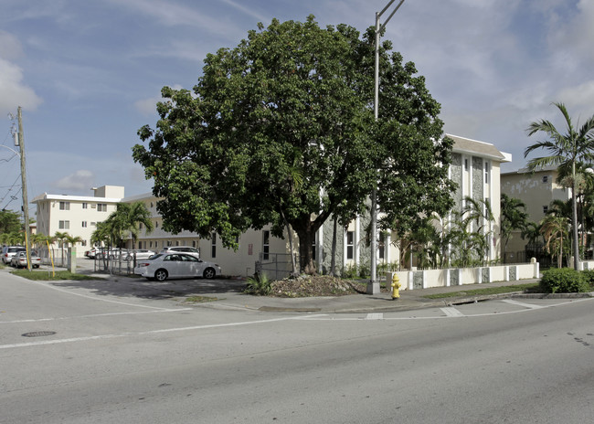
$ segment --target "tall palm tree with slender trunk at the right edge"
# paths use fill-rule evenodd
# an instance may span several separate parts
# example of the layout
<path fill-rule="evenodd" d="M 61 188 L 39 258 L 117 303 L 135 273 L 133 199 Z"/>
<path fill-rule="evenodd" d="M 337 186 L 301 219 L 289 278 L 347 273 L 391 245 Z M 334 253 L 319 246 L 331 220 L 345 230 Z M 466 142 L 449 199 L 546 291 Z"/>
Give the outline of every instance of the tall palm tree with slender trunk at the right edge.
<path fill-rule="evenodd" d="M 571 118 L 567 113 L 567 108 L 563 103 L 553 103 L 563 114 L 566 122 L 567 132 L 562 134 L 557 131 L 552 122 L 541 120 L 532 122 L 527 129 L 528 136 L 536 132 L 545 132 L 548 140 L 538 142 L 528 146 L 525 149 L 524 157 L 536 149 L 545 149 L 550 155 L 536 157 L 528 162 L 528 169 L 534 171 L 546 165 L 557 165 L 560 168 L 568 169 L 571 167 L 572 190 L 572 227 L 573 227 L 573 266 L 579 268 L 579 248 L 578 248 L 578 207 L 577 207 L 577 183 L 576 183 L 576 164 L 578 162 L 590 163 L 594 160 L 594 116 L 590 117 L 578 129 L 574 128 Z"/>

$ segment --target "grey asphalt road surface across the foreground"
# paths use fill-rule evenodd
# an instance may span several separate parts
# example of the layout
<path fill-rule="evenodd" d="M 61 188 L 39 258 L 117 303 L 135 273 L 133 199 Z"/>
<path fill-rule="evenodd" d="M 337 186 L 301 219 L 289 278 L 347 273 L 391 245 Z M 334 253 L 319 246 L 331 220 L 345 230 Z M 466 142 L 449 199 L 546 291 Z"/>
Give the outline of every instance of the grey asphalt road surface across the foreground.
<path fill-rule="evenodd" d="M 0 423 L 581 424 L 594 413 L 590 299 L 298 314 L 5 272 L 0 290 Z M 34 332 L 55 334 L 22 335 Z"/>

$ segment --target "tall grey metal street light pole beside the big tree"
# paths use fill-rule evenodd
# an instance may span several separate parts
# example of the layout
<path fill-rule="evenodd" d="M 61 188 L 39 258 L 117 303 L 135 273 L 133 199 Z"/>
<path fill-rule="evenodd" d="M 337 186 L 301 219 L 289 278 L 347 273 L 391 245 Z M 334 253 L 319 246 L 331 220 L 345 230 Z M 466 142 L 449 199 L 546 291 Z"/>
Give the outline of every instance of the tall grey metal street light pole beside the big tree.
<path fill-rule="evenodd" d="M 389 20 L 394 16 L 396 11 L 404 3 L 400 0 L 398 5 L 387 16 L 386 22 L 383 25 L 379 24 L 379 18 L 386 13 L 387 9 L 396 0 L 390 0 L 389 3 L 382 9 L 381 12 L 376 12 L 376 71 L 375 71 L 375 96 L 374 96 L 374 116 L 377 121 L 379 114 L 379 33 L 386 27 Z M 379 292 L 379 281 L 377 281 L 377 184 L 374 185 L 371 193 L 371 281 L 367 284 L 367 294 L 377 294 Z"/>

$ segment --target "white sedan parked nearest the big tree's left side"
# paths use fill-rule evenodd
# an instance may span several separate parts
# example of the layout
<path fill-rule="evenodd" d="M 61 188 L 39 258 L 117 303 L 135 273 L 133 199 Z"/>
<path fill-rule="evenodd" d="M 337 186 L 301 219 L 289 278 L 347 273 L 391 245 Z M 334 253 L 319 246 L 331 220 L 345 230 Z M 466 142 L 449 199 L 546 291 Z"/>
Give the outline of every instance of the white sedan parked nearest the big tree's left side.
<path fill-rule="evenodd" d="M 136 264 L 134 274 L 147 280 L 165 281 L 168 278 L 220 277 L 220 267 L 213 262 L 201 260 L 196 253 L 159 253 Z"/>

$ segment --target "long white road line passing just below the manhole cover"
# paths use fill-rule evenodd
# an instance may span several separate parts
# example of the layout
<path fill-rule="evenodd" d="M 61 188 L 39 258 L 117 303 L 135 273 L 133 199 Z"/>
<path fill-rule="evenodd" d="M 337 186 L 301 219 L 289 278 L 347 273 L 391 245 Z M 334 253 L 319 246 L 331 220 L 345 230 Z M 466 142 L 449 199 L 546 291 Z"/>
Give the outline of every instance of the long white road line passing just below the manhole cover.
<path fill-rule="evenodd" d="M 325 313 L 321 313 L 319 315 L 310 315 L 310 318 L 324 316 L 324 315 L 325 315 Z M 112 338 L 117 338 L 117 337 L 130 337 L 130 336 L 135 336 L 135 335 L 204 330 L 207 328 L 233 327 L 233 326 L 239 326 L 239 325 L 257 324 L 257 323 L 276 323 L 276 322 L 280 322 L 280 321 L 298 321 L 298 320 L 303 320 L 303 318 L 306 318 L 306 317 L 292 316 L 292 317 L 286 317 L 286 318 L 273 318 L 270 320 L 261 320 L 261 321 L 246 321 L 246 322 L 239 322 L 239 323 L 215 323 L 215 324 L 209 324 L 209 325 L 196 325 L 196 326 L 192 326 L 192 327 L 165 328 L 163 330 L 150 330 L 150 331 L 138 332 L 138 333 L 90 335 L 90 336 L 86 336 L 86 337 L 72 337 L 69 339 L 42 340 L 39 342 L 16 343 L 13 345 L 0 345 L 0 349 L 12 349 L 12 348 L 16 348 L 16 347 L 29 347 L 29 346 L 40 346 L 40 345 L 58 345 L 58 344 L 62 344 L 62 343 L 86 342 L 89 340 L 102 340 L 102 339 L 112 339 Z"/>

